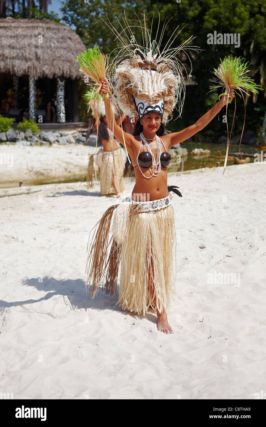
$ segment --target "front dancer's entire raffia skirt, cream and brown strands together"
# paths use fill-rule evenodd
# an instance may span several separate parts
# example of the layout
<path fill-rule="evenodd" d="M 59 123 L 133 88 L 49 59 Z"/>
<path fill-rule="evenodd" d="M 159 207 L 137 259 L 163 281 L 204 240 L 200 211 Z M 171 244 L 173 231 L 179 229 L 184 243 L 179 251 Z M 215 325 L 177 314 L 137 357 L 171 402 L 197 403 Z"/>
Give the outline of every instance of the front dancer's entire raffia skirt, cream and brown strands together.
<path fill-rule="evenodd" d="M 143 212 L 142 205 L 130 199 L 111 206 L 97 222 L 87 247 L 86 295 L 90 285 L 92 298 L 101 285 L 106 294 L 116 294 L 120 270 L 119 307 L 138 314 L 161 313 L 169 309 L 175 289 L 174 209 L 169 204 Z"/>

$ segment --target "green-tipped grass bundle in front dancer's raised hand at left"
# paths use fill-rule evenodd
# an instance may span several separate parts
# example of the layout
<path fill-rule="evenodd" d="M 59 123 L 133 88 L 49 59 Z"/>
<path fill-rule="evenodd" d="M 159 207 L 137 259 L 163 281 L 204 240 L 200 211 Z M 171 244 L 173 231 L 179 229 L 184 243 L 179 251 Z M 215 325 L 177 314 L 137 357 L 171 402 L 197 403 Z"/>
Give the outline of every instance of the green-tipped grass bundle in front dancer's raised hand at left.
<path fill-rule="evenodd" d="M 94 82 L 94 89 L 98 93 L 101 88 L 100 80 L 104 80 L 108 67 L 108 56 L 102 55 L 99 47 L 85 50 L 77 56 L 79 71 Z"/>

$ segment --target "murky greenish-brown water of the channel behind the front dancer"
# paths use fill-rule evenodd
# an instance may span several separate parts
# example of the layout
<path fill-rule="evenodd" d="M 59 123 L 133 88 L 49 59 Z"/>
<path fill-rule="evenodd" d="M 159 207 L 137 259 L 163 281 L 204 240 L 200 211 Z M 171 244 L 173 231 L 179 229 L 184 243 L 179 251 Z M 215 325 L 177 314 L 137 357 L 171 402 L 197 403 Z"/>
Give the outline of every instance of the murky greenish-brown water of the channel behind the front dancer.
<path fill-rule="evenodd" d="M 185 170 L 191 170 L 191 169 L 200 169 L 202 167 L 216 167 L 216 162 L 220 162 L 220 166 L 224 165 L 225 161 L 225 153 L 226 153 L 226 143 L 192 143 L 192 142 L 184 142 L 181 143 L 180 146 L 182 148 L 186 148 L 188 151 L 187 157 L 182 157 L 181 159 L 184 160 L 184 171 Z M 210 153 L 208 155 L 192 155 L 191 151 L 195 148 L 202 148 L 202 149 L 209 149 Z M 241 145 L 240 151 L 243 153 L 250 154 L 250 162 L 254 161 L 254 154 L 260 153 L 258 148 L 255 148 L 254 146 L 249 145 Z M 239 145 L 238 144 L 230 144 L 229 146 L 229 152 L 237 153 L 239 152 Z M 175 162 L 176 160 L 172 158 L 172 161 Z M 234 156 L 228 155 L 227 165 L 230 166 L 234 164 Z M 173 166 L 168 167 L 168 172 L 179 172 L 180 166 Z M 99 178 L 97 174 L 97 179 Z M 70 182 L 79 182 L 82 181 L 86 182 L 86 176 L 85 175 L 74 175 L 74 178 L 67 178 L 67 179 L 60 179 L 60 176 L 58 176 L 57 180 L 53 181 L 47 181 L 47 180 L 32 180 L 32 181 L 23 181 L 23 186 L 26 185 L 43 185 L 43 184 L 61 184 L 61 183 L 70 183 Z M 17 182 L 5 182 L 0 183 L 0 188 L 6 188 L 6 187 L 18 187 L 19 183 Z"/>

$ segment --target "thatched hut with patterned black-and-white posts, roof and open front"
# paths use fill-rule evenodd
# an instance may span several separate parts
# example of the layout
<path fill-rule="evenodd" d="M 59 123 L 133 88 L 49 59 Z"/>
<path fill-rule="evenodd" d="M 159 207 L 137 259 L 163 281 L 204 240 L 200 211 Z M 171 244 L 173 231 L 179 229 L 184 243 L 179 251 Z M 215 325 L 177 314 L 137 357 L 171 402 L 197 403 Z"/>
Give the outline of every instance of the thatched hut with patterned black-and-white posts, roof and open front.
<path fill-rule="evenodd" d="M 79 35 L 48 19 L 0 18 L 0 46 L 0 114 L 79 121 L 78 80 L 85 76 L 75 59 L 86 50 Z"/>

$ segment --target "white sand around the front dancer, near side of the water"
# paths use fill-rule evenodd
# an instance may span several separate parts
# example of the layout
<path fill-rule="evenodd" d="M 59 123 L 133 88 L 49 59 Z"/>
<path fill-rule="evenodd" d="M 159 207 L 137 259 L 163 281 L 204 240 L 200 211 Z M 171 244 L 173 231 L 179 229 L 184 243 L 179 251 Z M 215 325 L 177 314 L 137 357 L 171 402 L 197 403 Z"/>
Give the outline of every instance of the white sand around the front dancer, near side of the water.
<path fill-rule="evenodd" d="M 88 234 L 116 204 L 99 196 L 99 185 L 51 184 L 28 194 L 22 187 L 0 198 L 0 392 L 14 399 L 254 399 L 265 392 L 266 164 L 222 171 L 169 176 L 183 195 L 172 201 L 172 335 L 156 329 L 152 314 L 115 307 L 117 295 L 85 297 Z M 14 190 L 0 190 L 8 193 Z M 239 273 L 240 281 L 210 284 L 214 271 Z"/>

